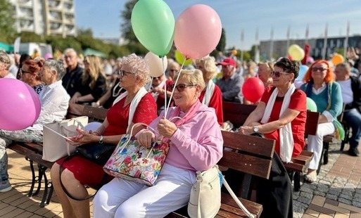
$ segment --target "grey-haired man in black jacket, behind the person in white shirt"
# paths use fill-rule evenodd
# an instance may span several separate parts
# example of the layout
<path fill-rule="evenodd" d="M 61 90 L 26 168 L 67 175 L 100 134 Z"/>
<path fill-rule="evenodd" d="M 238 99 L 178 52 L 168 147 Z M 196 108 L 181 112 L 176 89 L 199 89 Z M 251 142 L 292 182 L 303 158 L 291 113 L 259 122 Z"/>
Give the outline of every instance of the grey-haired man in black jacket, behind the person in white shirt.
<path fill-rule="evenodd" d="M 63 86 L 68 91 L 70 98 L 79 89 L 82 84 L 82 74 L 84 69 L 80 68 L 77 63 L 77 52 L 74 49 L 65 49 L 64 51 L 66 68 L 65 76 L 63 77 Z"/>

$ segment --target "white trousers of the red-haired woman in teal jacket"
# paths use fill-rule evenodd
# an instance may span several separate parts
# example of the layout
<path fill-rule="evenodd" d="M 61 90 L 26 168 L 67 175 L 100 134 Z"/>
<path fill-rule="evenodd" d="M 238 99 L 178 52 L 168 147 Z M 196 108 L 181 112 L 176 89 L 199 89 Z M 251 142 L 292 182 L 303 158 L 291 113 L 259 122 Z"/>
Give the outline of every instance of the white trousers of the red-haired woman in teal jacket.
<path fill-rule="evenodd" d="M 321 160 L 324 136 L 333 134 L 335 126 L 333 122 L 324 122 L 318 124 L 317 134 L 315 136 L 308 135 L 307 150 L 313 152 L 313 158 L 310 162 L 309 169 L 317 169 L 319 160 Z"/>

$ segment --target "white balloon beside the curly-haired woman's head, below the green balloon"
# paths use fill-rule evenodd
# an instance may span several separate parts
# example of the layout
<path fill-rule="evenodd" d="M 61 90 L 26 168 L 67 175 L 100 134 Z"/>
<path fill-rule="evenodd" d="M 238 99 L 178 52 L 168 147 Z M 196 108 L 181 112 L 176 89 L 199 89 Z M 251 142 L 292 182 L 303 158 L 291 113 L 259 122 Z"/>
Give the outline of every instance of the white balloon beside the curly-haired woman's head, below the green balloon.
<path fill-rule="evenodd" d="M 151 71 L 151 77 L 160 77 L 167 70 L 167 56 L 159 58 L 155 53 L 149 51 L 144 57 L 146 63 L 148 63 L 149 70 Z"/>

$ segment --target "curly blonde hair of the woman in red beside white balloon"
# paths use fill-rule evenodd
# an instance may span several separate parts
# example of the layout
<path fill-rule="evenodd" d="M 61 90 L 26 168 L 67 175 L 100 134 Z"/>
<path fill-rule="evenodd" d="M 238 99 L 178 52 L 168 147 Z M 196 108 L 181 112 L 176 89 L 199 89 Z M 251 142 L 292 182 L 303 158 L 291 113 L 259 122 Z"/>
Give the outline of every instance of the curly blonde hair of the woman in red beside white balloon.
<path fill-rule="evenodd" d="M 129 56 L 122 58 L 122 65 L 126 65 L 129 68 L 132 68 L 132 73 L 140 78 L 141 86 L 145 86 L 148 82 L 151 82 L 151 73 L 149 67 L 146 64 L 146 61 L 132 53 Z"/>

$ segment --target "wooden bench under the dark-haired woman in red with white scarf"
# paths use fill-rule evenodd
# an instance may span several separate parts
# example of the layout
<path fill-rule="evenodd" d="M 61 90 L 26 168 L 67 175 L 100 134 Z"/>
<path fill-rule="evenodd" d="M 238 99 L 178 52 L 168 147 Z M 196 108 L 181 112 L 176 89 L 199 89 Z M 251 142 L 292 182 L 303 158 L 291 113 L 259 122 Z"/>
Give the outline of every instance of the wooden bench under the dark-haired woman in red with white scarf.
<path fill-rule="evenodd" d="M 256 105 L 244 105 L 241 103 L 223 102 L 223 117 L 224 121 L 229 120 L 238 128 L 243 125 L 248 115 L 255 110 Z M 316 134 L 319 113 L 312 113 L 308 111 L 308 118 L 305 125 L 305 136 L 308 134 Z M 298 157 L 292 158 L 291 162 L 284 163 L 284 167 L 290 172 L 290 179 L 293 181 L 295 191 L 300 189 L 300 173 L 305 172 L 309 163 L 313 158 L 313 153 L 308 150 L 303 150 Z"/>

